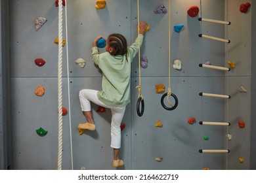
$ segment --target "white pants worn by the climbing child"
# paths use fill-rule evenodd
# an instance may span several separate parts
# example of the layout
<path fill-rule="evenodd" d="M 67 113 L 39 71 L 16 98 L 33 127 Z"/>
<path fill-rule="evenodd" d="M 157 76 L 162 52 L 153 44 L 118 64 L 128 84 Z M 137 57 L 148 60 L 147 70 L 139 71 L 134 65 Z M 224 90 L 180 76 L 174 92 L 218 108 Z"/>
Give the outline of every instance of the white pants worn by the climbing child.
<path fill-rule="evenodd" d="M 125 107 L 110 107 L 102 103 L 98 99 L 97 90 L 84 89 L 79 92 L 79 99 L 82 111 L 91 111 L 91 102 L 96 105 L 110 108 L 112 113 L 111 119 L 111 144 L 112 148 L 121 148 L 121 121 L 123 120 L 123 115 L 125 114 Z"/>

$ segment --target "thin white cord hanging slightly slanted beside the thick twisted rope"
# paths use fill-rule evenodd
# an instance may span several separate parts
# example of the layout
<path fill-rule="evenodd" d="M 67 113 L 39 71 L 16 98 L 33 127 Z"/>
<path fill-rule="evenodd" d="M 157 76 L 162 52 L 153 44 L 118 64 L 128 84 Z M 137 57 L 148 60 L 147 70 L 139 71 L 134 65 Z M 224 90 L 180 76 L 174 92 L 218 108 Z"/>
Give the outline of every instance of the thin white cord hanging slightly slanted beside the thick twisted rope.
<path fill-rule="evenodd" d="M 66 19 L 66 56 L 67 56 L 67 77 L 68 77 L 68 108 L 70 108 L 70 72 L 69 72 L 69 67 L 68 67 L 68 63 L 69 63 L 69 59 L 68 59 L 68 12 L 67 12 L 67 5 L 68 2 L 66 1 L 65 4 L 65 19 Z M 69 120 L 70 120 L 70 154 L 71 154 L 71 166 L 72 166 L 72 170 L 74 169 L 74 165 L 73 165 L 73 145 L 72 145 L 72 122 L 71 122 L 71 110 L 70 112 L 68 112 L 68 116 L 69 116 Z"/>

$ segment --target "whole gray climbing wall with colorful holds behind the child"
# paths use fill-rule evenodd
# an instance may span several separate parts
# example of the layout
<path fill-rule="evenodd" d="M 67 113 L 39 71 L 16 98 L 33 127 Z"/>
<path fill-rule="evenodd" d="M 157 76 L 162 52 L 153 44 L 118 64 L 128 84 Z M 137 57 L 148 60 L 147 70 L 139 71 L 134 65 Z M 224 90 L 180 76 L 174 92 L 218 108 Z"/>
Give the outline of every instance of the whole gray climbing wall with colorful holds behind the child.
<path fill-rule="evenodd" d="M 250 73 L 247 73 L 251 58 L 246 63 L 237 60 L 242 69 L 233 69 L 226 75 L 223 71 L 207 70 L 200 63 L 211 61 L 213 65 L 226 66 L 228 59 L 238 59 L 238 52 L 248 54 L 250 50 L 249 21 L 241 26 L 244 18 L 250 18 L 250 12 L 239 11 L 245 1 L 224 0 L 172 0 L 171 1 L 171 65 L 169 53 L 169 5 L 167 0 L 140 0 L 140 17 L 150 25 L 150 31 L 144 36 L 141 57 L 146 56 L 148 67 L 141 68 L 141 88 L 144 98 L 144 114 L 137 115 L 139 85 L 138 57 L 133 60 L 131 78 L 131 103 L 127 105 L 123 123 L 120 157 L 125 166 L 121 169 L 249 169 L 249 144 L 240 141 L 249 140 L 249 93 L 239 93 L 240 84 L 250 89 Z M 154 10 L 165 5 L 167 14 L 156 14 Z M 137 1 L 109 0 L 103 9 L 95 8 L 95 1 L 68 1 L 68 34 L 64 25 L 66 44 L 63 52 L 63 106 L 68 114 L 63 116 L 63 152 L 62 169 L 114 169 L 112 167 L 112 148 L 110 148 L 110 110 L 96 112 L 92 105 L 96 131 L 79 135 L 77 124 L 85 122 L 79 104 L 78 93 L 83 88 L 101 89 L 101 73 L 91 59 L 91 47 L 95 37 L 108 37 L 110 33 L 121 33 L 129 44 L 137 37 Z M 192 5 L 200 8 L 198 16 L 188 16 Z M 228 8 L 228 19 L 235 22 L 226 31 L 225 25 L 206 24 L 198 17 L 224 20 Z M 232 7 L 232 8 L 231 8 Z M 28 11 L 28 8 L 30 11 Z M 11 96 L 12 96 L 12 169 L 56 169 L 58 150 L 58 108 L 57 108 L 57 63 L 58 46 L 54 43 L 58 37 L 58 8 L 54 1 L 11 0 Z M 47 22 L 35 31 L 35 19 L 43 17 Z M 239 17 L 239 18 L 238 18 Z M 173 26 L 184 24 L 179 33 Z M 244 29 L 241 29 L 244 27 Z M 238 33 L 247 33 L 247 42 L 241 43 Z M 198 37 L 200 33 L 232 39 L 231 46 L 218 41 L 209 41 Z M 227 33 L 227 34 L 226 34 Z M 234 40 L 234 43 L 233 43 Z M 240 45 L 240 46 L 238 46 Z M 242 45 L 242 46 L 241 46 Z M 68 56 L 66 48 L 68 47 Z M 235 49 L 236 48 L 236 49 Z M 228 51 L 227 51 L 228 50 Z M 230 52 L 232 51 L 232 52 Z M 104 48 L 100 48 L 104 52 Z M 45 60 L 39 67 L 35 59 Z M 84 68 L 75 63 L 78 58 L 86 61 Z M 173 69 L 173 60 L 182 61 L 182 69 Z M 67 65 L 68 60 L 68 65 Z M 244 61 L 244 60 L 243 60 Z M 171 90 L 179 99 L 175 110 L 165 110 L 160 103 L 161 96 L 169 85 L 168 67 L 171 67 Z M 68 68 L 68 70 L 67 70 Z M 249 70 L 248 70 L 249 71 Z M 229 77 L 229 75 L 231 75 Z M 228 83 L 226 82 L 228 80 Z M 155 86 L 165 85 L 165 92 L 156 93 Z M 35 95 L 37 86 L 43 86 L 45 93 Z M 228 89 L 227 89 L 228 88 Z M 68 92 L 70 89 L 70 92 Z M 235 95 L 230 103 L 226 99 L 201 97 L 200 92 L 226 93 Z M 70 93 L 70 107 L 68 94 Z M 243 101 L 247 108 L 244 112 L 236 107 Z M 228 107 L 226 106 L 228 105 Z M 228 109 L 227 109 L 228 108 Z M 232 116 L 236 114 L 235 116 Z M 232 116 L 232 117 L 230 117 Z M 196 122 L 188 124 L 189 118 Z M 234 141 L 230 145 L 230 154 L 200 154 L 202 148 L 226 148 L 226 127 L 204 127 L 201 120 L 232 120 L 230 131 Z M 247 122 L 241 133 L 236 121 Z M 163 126 L 156 127 L 161 121 Z M 44 136 L 37 135 L 36 129 L 47 131 Z M 241 135 L 238 137 L 236 135 Z M 203 140 L 207 135 L 209 140 Z M 243 136 L 244 135 L 244 136 Z M 230 144 L 230 142 L 228 143 Z M 242 148 L 238 148 L 242 146 Z M 247 150 L 247 151 L 246 151 Z M 242 154 L 245 163 L 238 161 Z M 155 158 L 163 158 L 156 161 Z M 234 161 L 238 163 L 234 163 Z"/>

